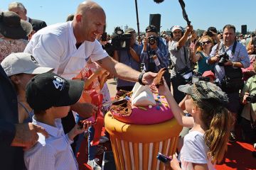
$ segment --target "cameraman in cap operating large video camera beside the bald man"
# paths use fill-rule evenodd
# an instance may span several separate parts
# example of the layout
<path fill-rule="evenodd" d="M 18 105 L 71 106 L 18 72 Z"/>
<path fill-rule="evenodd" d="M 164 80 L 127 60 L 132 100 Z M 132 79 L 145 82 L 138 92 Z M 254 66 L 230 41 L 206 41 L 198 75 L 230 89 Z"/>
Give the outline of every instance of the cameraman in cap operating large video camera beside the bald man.
<path fill-rule="evenodd" d="M 139 71 L 140 60 L 139 56 L 142 52 L 142 45 L 137 45 L 136 42 L 136 32 L 133 28 L 127 28 L 124 34 L 131 34 L 131 40 L 129 41 L 129 50 L 114 50 L 114 60 L 126 64 L 132 69 Z M 122 79 L 117 79 L 117 91 L 125 90 L 132 91 L 135 82 L 125 81 Z"/>

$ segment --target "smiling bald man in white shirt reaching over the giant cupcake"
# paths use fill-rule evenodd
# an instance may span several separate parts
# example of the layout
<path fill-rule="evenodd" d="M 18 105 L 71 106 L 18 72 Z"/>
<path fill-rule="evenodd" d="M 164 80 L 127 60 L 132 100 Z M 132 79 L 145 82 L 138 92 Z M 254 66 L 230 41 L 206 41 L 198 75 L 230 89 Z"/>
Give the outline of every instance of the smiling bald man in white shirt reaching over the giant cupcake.
<path fill-rule="evenodd" d="M 103 33 L 106 24 L 105 11 L 93 1 L 83 1 L 75 13 L 73 21 L 58 23 L 39 30 L 26 46 L 42 66 L 53 67 L 55 73 L 72 79 L 85 67 L 91 58 L 110 74 L 140 84 L 151 84 L 156 74 L 140 73 L 119 63 L 102 49 L 97 35 Z M 88 103 L 75 103 L 71 109 L 87 118 L 97 111 Z"/>

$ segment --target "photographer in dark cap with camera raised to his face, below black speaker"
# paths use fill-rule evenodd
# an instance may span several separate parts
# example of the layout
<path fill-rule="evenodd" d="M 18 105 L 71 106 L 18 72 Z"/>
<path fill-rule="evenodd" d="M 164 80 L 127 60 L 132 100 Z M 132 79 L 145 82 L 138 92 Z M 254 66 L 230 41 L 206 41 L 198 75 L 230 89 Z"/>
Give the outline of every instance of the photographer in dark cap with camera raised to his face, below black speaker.
<path fill-rule="evenodd" d="M 146 72 L 159 72 L 161 68 L 169 67 L 168 50 L 162 38 L 159 37 L 155 26 L 146 27 L 146 37 L 143 40 L 141 60 L 144 62 Z M 169 72 L 164 73 L 164 79 L 170 88 Z"/>

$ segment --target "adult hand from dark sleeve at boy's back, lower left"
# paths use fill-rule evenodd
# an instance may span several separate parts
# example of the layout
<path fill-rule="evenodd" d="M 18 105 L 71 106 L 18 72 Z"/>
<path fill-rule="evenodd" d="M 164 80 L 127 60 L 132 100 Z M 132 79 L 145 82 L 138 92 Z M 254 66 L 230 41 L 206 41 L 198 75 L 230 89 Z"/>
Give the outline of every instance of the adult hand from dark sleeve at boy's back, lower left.
<path fill-rule="evenodd" d="M 32 123 L 16 124 L 16 134 L 14 140 L 11 142 L 12 147 L 24 147 L 30 149 L 38 141 L 38 134 L 40 132 L 45 137 L 48 137 L 48 132 L 44 128 Z"/>

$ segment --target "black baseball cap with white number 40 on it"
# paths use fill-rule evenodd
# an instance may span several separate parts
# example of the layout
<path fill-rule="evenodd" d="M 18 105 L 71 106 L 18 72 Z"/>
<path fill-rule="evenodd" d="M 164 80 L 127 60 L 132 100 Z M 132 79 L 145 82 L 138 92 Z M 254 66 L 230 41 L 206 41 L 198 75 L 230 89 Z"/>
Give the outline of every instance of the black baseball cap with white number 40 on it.
<path fill-rule="evenodd" d="M 36 111 L 53 106 L 70 106 L 82 95 L 84 81 L 66 80 L 47 72 L 33 77 L 26 86 L 26 101 Z"/>

